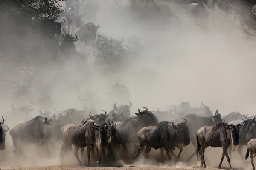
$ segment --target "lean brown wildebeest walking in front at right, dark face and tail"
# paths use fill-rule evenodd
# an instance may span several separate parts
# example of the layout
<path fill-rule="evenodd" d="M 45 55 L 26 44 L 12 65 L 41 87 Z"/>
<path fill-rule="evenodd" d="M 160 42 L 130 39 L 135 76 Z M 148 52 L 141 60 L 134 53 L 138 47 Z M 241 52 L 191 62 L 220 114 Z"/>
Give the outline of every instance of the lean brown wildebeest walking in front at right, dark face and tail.
<path fill-rule="evenodd" d="M 246 122 L 241 126 L 244 126 Z M 197 157 L 201 158 L 201 167 L 206 168 L 205 160 L 204 160 L 204 152 L 205 149 L 209 146 L 211 147 L 222 147 L 222 156 L 221 162 L 218 168 L 221 168 L 222 161 L 224 156 L 226 156 L 227 161 L 229 163 L 230 169 L 232 169 L 230 164 L 230 158 L 227 153 L 227 148 L 232 145 L 232 151 L 236 150 L 236 147 L 239 144 L 239 130 L 233 124 L 226 124 L 225 121 L 219 123 L 215 126 L 204 126 L 201 127 L 196 133 L 197 139 Z"/>

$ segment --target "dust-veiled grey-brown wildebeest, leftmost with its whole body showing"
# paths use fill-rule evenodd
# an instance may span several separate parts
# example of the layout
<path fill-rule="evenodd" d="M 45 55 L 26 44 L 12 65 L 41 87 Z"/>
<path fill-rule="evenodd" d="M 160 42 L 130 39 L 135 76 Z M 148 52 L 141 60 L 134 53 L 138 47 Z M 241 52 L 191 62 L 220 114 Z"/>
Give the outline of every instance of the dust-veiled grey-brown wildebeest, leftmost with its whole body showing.
<path fill-rule="evenodd" d="M 47 142 L 51 138 L 53 139 L 53 119 L 47 119 L 47 117 L 36 116 L 10 130 L 15 153 L 17 151 L 21 153 L 20 142 L 32 142 L 39 146 L 47 146 Z M 48 148 L 47 152 L 49 152 Z"/>

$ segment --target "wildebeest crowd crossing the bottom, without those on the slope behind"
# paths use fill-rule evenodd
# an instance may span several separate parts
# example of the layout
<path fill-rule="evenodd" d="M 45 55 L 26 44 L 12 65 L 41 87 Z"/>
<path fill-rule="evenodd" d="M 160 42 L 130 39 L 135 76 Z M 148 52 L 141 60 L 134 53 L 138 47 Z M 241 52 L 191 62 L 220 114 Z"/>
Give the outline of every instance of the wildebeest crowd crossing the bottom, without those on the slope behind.
<path fill-rule="evenodd" d="M 160 149 L 161 161 L 164 161 L 165 150 L 168 160 L 171 161 L 172 155 L 177 162 L 183 148 L 192 144 L 195 152 L 187 158 L 187 161 L 196 154 L 201 159 L 201 166 L 206 167 L 205 149 L 209 146 L 222 147 L 223 153 L 218 167 L 221 167 L 226 156 L 232 169 L 231 150 L 235 151 L 238 146 L 238 152 L 244 159 L 245 155 L 241 153 L 241 147 L 248 143 L 246 159 L 250 153 L 253 165 L 256 151 L 254 130 L 256 116 L 247 117 L 238 112 L 221 116 L 218 110 L 212 114 L 209 106 L 202 102 L 201 104 L 200 107 L 192 108 L 189 102 L 182 102 L 180 105 L 173 105 L 169 111 L 159 111 L 159 109 L 149 111 L 147 107 L 143 107 L 144 110 L 138 109 L 135 116 L 131 116 L 130 113 L 131 102 L 119 107 L 114 103 L 113 110 L 109 113 L 104 110 L 103 113 L 97 113 L 93 109 L 89 114 L 76 109 L 52 113 L 41 109 L 39 116 L 19 123 L 10 130 L 4 125 L 6 117 L 2 117 L 0 149 L 5 150 L 6 132 L 9 130 L 16 155 L 23 155 L 22 147 L 25 143 L 36 144 L 49 154 L 48 144 L 51 141 L 58 141 L 62 143 L 60 164 L 63 164 L 66 151 L 72 150 L 74 145 L 74 155 L 80 165 L 83 164 L 84 148 L 87 148 L 86 165 L 90 166 L 91 154 L 97 165 L 102 159 L 108 159 L 109 163 L 117 160 L 132 163 L 141 155 L 148 159 L 152 147 Z M 167 117 L 169 121 L 165 120 Z M 132 144 L 130 151 L 128 151 L 129 144 Z M 79 148 L 81 148 L 82 160 L 78 156 Z M 180 150 L 177 156 L 173 153 L 175 148 Z M 121 156 L 118 155 L 119 151 L 122 152 Z"/>

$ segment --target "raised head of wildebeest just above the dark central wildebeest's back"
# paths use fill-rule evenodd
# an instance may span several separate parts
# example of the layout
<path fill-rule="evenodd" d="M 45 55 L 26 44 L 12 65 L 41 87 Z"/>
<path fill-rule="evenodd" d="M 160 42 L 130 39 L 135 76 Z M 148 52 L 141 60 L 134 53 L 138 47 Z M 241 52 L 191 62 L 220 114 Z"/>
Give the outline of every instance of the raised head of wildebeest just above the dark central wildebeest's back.
<path fill-rule="evenodd" d="M 146 110 L 140 111 L 138 109 L 139 113 L 135 113 L 141 120 L 145 122 L 146 126 L 156 126 L 159 124 L 159 120 L 154 116 L 154 114 L 151 111 L 148 111 L 148 108 L 143 107 Z"/>

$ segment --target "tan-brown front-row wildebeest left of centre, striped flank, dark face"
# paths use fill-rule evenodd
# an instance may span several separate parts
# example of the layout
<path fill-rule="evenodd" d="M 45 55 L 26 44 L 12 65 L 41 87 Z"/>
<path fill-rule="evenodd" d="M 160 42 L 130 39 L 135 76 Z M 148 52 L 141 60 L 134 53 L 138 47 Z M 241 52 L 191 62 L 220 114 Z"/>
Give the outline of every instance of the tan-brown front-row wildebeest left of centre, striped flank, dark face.
<path fill-rule="evenodd" d="M 78 149 L 79 147 L 87 147 L 87 166 L 90 166 L 90 151 L 92 152 L 93 157 L 95 158 L 94 147 L 96 147 L 97 150 L 99 150 L 106 146 L 106 144 L 108 143 L 108 139 L 110 139 L 109 128 L 114 126 L 113 123 L 110 126 L 106 124 L 96 125 L 95 122 L 96 121 L 92 122 L 89 119 L 85 119 L 83 123 L 81 123 L 80 125 L 71 124 L 62 127 L 64 144 L 61 146 L 60 151 L 61 164 L 63 164 L 64 154 L 66 150 L 70 148 L 73 144 L 75 145 L 74 155 L 80 165 L 82 164 L 82 162 L 78 157 Z M 104 150 L 102 150 L 102 152 L 104 152 Z M 98 165 L 100 163 L 101 155 L 99 159 L 95 158 L 97 160 Z"/>

